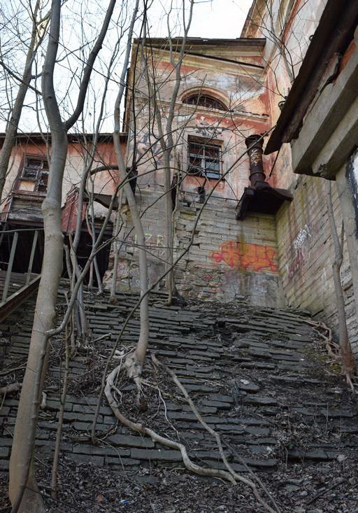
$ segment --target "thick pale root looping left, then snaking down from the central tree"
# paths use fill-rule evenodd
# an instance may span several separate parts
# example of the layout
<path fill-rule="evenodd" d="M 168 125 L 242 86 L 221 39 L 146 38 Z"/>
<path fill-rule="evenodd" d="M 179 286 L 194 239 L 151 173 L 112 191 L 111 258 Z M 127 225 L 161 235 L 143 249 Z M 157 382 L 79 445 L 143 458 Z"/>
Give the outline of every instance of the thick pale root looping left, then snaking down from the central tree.
<path fill-rule="evenodd" d="M 126 365 L 127 366 L 127 365 Z M 162 437 L 161 435 L 158 435 L 155 431 L 153 431 L 150 428 L 146 428 L 145 426 L 142 426 L 140 423 L 132 422 L 127 417 L 125 417 L 118 407 L 118 403 L 113 397 L 112 390 L 115 388 L 115 380 L 117 379 L 118 374 L 120 373 L 121 365 L 117 365 L 115 369 L 113 369 L 110 374 L 108 374 L 108 377 L 106 378 L 106 386 L 104 388 L 104 393 L 106 395 L 106 398 L 108 400 L 108 404 L 110 405 L 110 408 L 113 411 L 113 414 L 115 414 L 115 417 L 120 423 L 122 423 L 123 426 L 126 426 L 127 428 L 135 431 L 136 433 L 140 433 L 141 435 L 147 435 L 150 437 L 153 442 L 158 442 L 159 444 L 164 445 L 164 447 L 169 447 L 170 449 L 176 449 L 180 451 L 180 454 L 182 456 L 182 463 L 185 465 L 185 468 L 189 470 L 189 472 L 194 472 L 195 474 L 206 476 L 206 477 L 217 477 L 219 479 L 224 479 L 225 481 L 236 484 L 237 482 L 243 482 L 244 484 L 248 484 L 250 488 L 252 489 L 255 497 L 259 501 L 259 503 L 266 509 L 268 513 L 277 513 L 278 510 L 273 510 L 269 505 L 265 503 L 265 501 L 262 499 L 262 497 L 259 495 L 257 488 L 255 486 L 255 483 L 251 482 L 250 479 L 246 479 L 245 477 L 242 477 L 238 475 L 234 470 L 231 468 L 231 465 L 227 462 L 227 458 L 224 456 L 224 452 L 222 451 L 222 446 L 220 442 L 220 455 L 222 456 L 222 459 L 224 461 L 225 466 L 228 470 L 220 470 L 220 469 L 214 469 L 214 468 L 204 468 L 200 465 L 196 465 L 188 456 L 186 447 L 181 444 L 180 442 L 175 442 L 174 440 L 171 440 L 166 437 Z M 137 379 L 140 380 L 140 378 L 137 376 Z M 215 432 L 213 432 L 215 433 Z M 217 435 L 217 433 L 216 433 Z M 215 435 L 214 435 L 215 436 Z M 217 435 L 218 436 L 218 435 Z"/>

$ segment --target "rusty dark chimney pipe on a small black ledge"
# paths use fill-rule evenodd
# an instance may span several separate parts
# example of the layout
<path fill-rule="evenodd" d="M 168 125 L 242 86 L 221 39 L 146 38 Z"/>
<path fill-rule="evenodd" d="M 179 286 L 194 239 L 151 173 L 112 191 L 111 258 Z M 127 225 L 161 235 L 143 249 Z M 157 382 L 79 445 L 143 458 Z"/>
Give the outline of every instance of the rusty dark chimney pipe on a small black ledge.
<path fill-rule="evenodd" d="M 245 187 L 236 206 L 236 219 L 243 220 L 247 212 L 275 214 L 283 202 L 291 202 L 293 197 L 287 189 L 272 187 L 266 182 L 262 162 L 263 138 L 252 134 L 245 139 L 250 160 L 250 187 Z"/>

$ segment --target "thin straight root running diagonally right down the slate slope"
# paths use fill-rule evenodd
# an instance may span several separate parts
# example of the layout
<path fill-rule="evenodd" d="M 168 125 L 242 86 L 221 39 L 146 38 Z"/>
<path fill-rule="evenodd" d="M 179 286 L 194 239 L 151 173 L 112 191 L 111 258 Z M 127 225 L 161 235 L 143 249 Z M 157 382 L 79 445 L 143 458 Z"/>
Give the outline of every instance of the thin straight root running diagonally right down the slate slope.
<path fill-rule="evenodd" d="M 257 490 L 257 487 L 255 485 L 254 482 L 252 482 L 250 479 L 247 479 L 246 477 L 243 477 L 241 475 L 239 475 L 237 472 L 234 471 L 234 469 L 231 467 L 229 461 L 227 461 L 227 457 L 225 456 L 224 454 L 224 450 L 222 449 L 222 441 L 221 441 L 221 438 L 220 438 L 220 435 L 219 433 L 217 433 L 217 431 L 213 430 L 213 428 L 211 428 L 207 423 L 206 421 L 203 419 L 203 417 L 201 416 L 201 414 L 199 413 L 199 410 L 196 408 L 196 406 L 194 405 L 194 402 L 192 401 L 192 399 L 190 398 L 189 394 L 187 393 L 187 390 L 186 388 L 180 383 L 176 373 L 169 369 L 169 367 L 167 367 L 164 363 L 162 362 L 159 362 L 159 360 L 157 360 L 155 354 L 152 354 L 152 362 L 157 366 L 162 366 L 164 368 L 164 370 L 166 370 L 166 372 L 168 372 L 168 374 L 171 376 L 171 378 L 173 379 L 174 383 L 176 384 L 176 386 L 178 386 L 178 388 L 180 389 L 180 391 L 182 392 L 182 395 L 184 395 L 185 399 L 187 400 L 187 403 L 189 404 L 189 406 L 192 408 L 192 412 L 195 414 L 196 416 L 196 419 L 198 419 L 198 421 L 201 423 L 201 426 L 203 426 L 203 428 L 205 428 L 208 433 L 210 433 L 210 435 L 213 435 L 213 437 L 215 438 L 216 440 L 216 443 L 217 443 L 217 448 L 219 449 L 219 453 L 220 453 L 220 457 L 222 458 L 222 462 L 224 463 L 225 467 L 227 468 L 228 472 L 230 473 L 230 475 L 232 477 L 234 477 L 234 479 L 236 481 L 239 481 L 239 482 L 242 482 L 248 486 L 250 486 L 250 488 L 252 489 L 252 492 L 254 493 L 255 497 L 257 498 L 258 502 L 268 511 L 268 512 L 272 512 L 272 513 L 275 513 L 275 510 L 273 510 L 266 502 L 265 500 L 260 496 L 259 494 L 259 491 Z M 264 488 L 264 486 L 263 486 Z M 271 501 L 273 502 L 273 504 L 275 505 L 275 508 L 276 508 L 276 511 L 279 513 L 280 510 L 278 508 L 278 505 L 275 503 L 275 500 L 274 498 L 271 496 L 270 493 L 268 493 L 268 491 L 264 488 L 264 491 L 268 494 L 268 497 L 271 499 Z"/>

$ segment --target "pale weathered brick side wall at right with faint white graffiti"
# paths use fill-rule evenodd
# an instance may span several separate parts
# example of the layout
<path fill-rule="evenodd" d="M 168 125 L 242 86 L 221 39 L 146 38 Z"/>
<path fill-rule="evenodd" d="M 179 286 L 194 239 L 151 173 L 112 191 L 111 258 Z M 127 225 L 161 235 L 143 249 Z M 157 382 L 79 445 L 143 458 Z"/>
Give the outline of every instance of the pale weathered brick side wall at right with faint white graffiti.
<path fill-rule="evenodd" d="M 327 216 L 326 181 L 299 176 L 293 192 L 293 202 L 283 205 L 276 216 L 278 266 L 285 298 L 290 306 L 308 309 L 337 332 L 338 318 L 331 267 L 334 248 Z M 332 183 L 332 193 L 336 226 L 340 234 L 342 216 L 335 183 Z M 343 253 L 341 280 L 348 331 L 352 349 L 358 353 L 357 321 L 346 243 Z"/>

